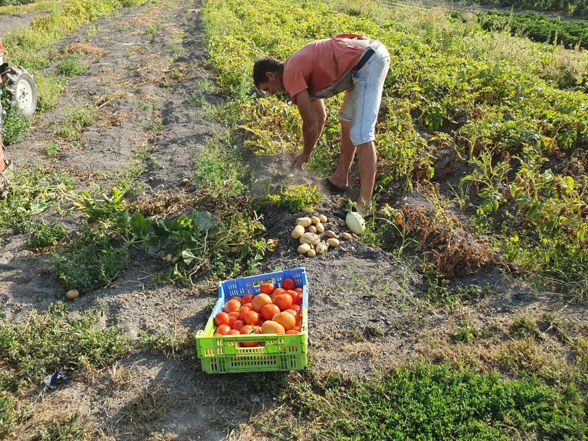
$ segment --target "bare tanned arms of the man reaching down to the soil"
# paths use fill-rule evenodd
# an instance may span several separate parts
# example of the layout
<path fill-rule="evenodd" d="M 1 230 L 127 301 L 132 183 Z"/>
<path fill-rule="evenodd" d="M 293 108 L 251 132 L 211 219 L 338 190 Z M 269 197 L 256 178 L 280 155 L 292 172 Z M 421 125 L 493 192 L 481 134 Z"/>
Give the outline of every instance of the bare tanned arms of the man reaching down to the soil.
<path fill-rule="evenodd" d="M 304 148 L 302 153 L 296 155 L 292 162 L 292 167 L 302 169 L 302 164 L 308 162 L 312 149 L 315 148 L 316 141 L 318 141 L 320 133 L 323 131 L 325 125 L 325 106 L 322 100 L 316 100 L 314 103 L 310 101 L 308 89 L 296 94 L 296 105 L 298 111 L 302 116 L 302 136 L 304 138 Z M 320 114 L 320 121 L 317 113 Z"/>

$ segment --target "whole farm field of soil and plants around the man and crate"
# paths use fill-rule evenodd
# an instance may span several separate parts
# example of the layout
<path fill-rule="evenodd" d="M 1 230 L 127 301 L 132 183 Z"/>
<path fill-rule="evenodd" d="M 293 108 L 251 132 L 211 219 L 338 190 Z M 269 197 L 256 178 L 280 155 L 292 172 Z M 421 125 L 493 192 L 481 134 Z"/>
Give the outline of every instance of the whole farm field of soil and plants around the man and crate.
<path fill-rule="evenodd" d="M 375 206 L 307 258 L 302 208 L 342 232 L 359 192 L 320 186 L 342 97 L 294 172 L 298 111 L 251 69 L 346 32 L 392 55 Z M 74 0 L 2 42 L 39 105 L 2 101 L 0 439 L 588 437 L 584 49 L 318 0 Z M 218 283 L 299 266 L 309 366 L 203 373 Z"/>

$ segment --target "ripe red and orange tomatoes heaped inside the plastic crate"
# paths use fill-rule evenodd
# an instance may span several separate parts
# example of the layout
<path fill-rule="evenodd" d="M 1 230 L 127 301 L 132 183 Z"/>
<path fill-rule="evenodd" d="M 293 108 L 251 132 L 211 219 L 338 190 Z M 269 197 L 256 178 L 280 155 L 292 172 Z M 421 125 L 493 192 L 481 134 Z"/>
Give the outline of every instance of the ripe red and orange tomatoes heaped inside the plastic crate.
<path fill-rule="evenodd" d="M 276 288 L 263 283 L 258 295 L 233 296 L 215 316 L 215 337 L 222 335 L 298 334 L 302 331 L 302 288 L 293 279 L 282 280 Z M 240 342 L 254 348 L 260 342 Z"/>

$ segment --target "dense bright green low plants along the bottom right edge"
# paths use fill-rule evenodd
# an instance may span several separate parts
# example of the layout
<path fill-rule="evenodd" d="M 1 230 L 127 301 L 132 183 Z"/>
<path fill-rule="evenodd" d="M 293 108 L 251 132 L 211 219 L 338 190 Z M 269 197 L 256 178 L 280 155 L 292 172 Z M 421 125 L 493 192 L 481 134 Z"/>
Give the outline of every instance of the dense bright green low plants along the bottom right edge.
<path fill-rule="evenodd" d="M 534 377 L 502 380 L 448 366 L 397 369 L 379 380 L 290 383 L 288 403 L 310 437 L 329 439 L 584 439 L 586 396 Z"/>

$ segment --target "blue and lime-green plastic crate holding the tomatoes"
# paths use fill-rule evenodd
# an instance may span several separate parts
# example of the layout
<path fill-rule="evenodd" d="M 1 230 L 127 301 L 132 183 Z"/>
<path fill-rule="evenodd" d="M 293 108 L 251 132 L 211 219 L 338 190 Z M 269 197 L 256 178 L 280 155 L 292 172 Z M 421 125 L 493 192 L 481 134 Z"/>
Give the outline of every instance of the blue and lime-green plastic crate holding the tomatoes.
<path fill-rule="evenodd" d="M 225 303 L 232 296 L 246 293 L 259 294 L 262 283 L 273 283 L 276 288 L 282 286 L 283 279 L 294 279 L 296 286 L 303 289 L 302 332 L 292 335 L 255 334 L 223 335 L 213 337 L 215 333 L 214 318 L 223 310 Z M 237 343 L 245 341 L 262 342 L 256 348 L 240 348 Z M 308 342 L 308 283 L 304 268 L 286 269 L 273 273 L 226 280 L 219 285 L 219 299 L 204 330 L 196 333 L 198 358 L 202 370 L 206 373 L 263 372 L 269 370 L 299 370 L 307 362 L 306 347 Z"/>

